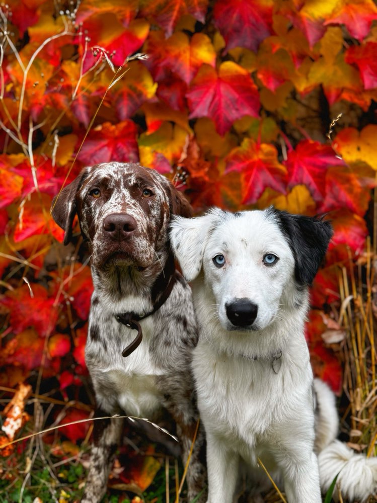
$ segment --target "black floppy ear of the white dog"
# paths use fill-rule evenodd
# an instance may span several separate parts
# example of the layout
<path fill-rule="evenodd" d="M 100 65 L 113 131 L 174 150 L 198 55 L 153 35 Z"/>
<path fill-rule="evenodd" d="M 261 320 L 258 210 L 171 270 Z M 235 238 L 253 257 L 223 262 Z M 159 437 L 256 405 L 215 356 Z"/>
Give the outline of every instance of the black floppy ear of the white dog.
<path fill-rule="evenodd" d="M 299 285 L 311 285 L 325 257 L 333 235 L 327 220 L 303 215 L 291 215 L 270 208 L 287 236 L 295 261 L 295 278 Z"/>

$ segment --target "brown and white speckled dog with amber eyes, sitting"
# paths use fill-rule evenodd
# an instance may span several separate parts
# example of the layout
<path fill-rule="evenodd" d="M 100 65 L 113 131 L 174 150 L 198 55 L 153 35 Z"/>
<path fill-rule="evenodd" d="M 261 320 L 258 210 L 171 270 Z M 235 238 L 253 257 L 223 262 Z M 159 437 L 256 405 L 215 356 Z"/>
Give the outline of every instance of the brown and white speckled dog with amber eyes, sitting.
<path fill-rule="evenodd" d="M 109 162 L 86 167 L 55 198 L 52 216 L 65 230 L 65 244 L 76 214 L 89 243 L 95 288 L 85 354 L 97 416 L 125 412 L 153 420 L 165 407 L 177 424 L 185 462 L 198 418 L 188 378 L 197 328 L 167 231 L 171 215 L 190 216 L 190 205 L 156 171 Z M 82 501 L 95 503 L 106 492 L 122 428 L 120 418 L 94 422 Z M 187 473 L 189 501 L 205 484 L 203 444 L 199 430 Z M 205 500 L 202 493 L 198 501 Z"/>

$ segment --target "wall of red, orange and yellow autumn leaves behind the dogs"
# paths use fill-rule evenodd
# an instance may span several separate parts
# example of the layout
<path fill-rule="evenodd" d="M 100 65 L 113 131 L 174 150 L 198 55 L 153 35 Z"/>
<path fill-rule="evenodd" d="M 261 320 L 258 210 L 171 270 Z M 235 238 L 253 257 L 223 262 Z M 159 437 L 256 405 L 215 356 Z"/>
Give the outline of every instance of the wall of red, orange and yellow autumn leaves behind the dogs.
<path fill-rule="evenodd" d="M 345 389 L 348 439 L 372 454 L 374 3 L 12 0 L 0 22 L 0 390 L 5 404 L 20 401 L 0 442 L 92 414 L 88 260 L 79 237 L 62 246 L 50 205 L 84 165 L 117 160 L 165 174 L 197 213 L 327 213 L 335 234 L 313 285 L 308 344 L 315 373 Z M 11 415 L 7 405 L 3 421 Z M 40 487 L 73 500 L 89 434 L 84 422 L 8 446 L 0 487 L 15 501 Z M 56 457 L 75 460 L 60 478 Z M 116 476 L 143 490 L 155 459 Z M 55 486 L 30 492 L 35 473 Z"/>

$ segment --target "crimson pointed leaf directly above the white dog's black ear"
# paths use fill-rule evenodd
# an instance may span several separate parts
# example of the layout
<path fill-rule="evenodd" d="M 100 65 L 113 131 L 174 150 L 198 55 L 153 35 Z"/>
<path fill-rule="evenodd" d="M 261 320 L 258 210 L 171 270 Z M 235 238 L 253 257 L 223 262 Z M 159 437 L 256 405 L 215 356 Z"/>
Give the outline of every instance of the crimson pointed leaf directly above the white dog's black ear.
<path fill-rule="evenodd" d="M 288 187 L 306 185 L 315 201 L 326 195 L 325 179 L 329 166 L 344 165 L 330 145 L 318 141 L 302 140 L 290 150 L 284 165 L 288 170 Z"/>

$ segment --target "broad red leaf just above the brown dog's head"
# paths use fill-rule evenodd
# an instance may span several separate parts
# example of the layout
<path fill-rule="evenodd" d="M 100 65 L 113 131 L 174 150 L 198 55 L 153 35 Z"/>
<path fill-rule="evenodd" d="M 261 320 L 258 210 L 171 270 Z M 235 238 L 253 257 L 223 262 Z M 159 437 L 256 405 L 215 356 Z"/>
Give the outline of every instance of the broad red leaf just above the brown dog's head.
<path fill-rule="evenodd" d="M 131 120 L 115 125 L 104 122 L 89 133 L 78 159 L 88 165 L 112 160 L 138 162 L 136 134 L 136 125 Z"/>

